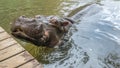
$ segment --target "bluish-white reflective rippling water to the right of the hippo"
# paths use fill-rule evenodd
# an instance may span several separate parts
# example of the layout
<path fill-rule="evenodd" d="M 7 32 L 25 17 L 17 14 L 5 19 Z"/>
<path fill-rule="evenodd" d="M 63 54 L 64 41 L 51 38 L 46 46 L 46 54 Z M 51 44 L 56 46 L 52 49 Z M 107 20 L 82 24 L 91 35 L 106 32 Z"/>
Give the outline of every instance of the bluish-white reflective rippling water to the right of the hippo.
<path fill-rule="evenodd" d="M 73 16 L 74 19 L 80 19 L 80 21 L 76 24 L 77 31 L 71 36 L 73 42 L 69 52 L 72 56 L 68 55 L 69 57 L 61 63 L 60 67 L 62 65 L 65 68 L 120 67 L 120 61 L 118 61 L 120 59 L 120 30 L 118 29 L 120 13 L 114 11 L 116 10 L 113 9 L 114 7 L 94 4 Z M 99 11 L 96 11 L 97 9 Z M 111 12 L 114 14 L 112 15 Z M 82 13 L 82 18 L 77 16 Z"/>

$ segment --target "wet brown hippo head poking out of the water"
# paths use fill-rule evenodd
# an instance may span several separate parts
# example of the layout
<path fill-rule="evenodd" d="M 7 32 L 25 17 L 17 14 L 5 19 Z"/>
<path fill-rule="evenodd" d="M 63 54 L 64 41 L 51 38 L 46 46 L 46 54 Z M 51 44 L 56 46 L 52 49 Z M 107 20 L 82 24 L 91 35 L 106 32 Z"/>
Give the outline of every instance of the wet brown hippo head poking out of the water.
<path fill-rule="evenodd" d="M 73 20 L 59 16 L 20 16 L 12 23 L 11 34 L 37 46 L 55 47 L 73 23 Z"/>

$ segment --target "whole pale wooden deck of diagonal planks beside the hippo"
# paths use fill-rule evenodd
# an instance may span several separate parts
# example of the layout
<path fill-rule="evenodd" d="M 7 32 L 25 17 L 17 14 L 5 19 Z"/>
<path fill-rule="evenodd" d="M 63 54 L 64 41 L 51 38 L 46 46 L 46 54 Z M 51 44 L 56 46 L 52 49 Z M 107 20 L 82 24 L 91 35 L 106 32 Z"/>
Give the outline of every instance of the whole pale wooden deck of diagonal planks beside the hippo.
<path fill-rule="evenodd" d="M 43 66 L 0 27 L 0 68 L 43 68 Z"/>

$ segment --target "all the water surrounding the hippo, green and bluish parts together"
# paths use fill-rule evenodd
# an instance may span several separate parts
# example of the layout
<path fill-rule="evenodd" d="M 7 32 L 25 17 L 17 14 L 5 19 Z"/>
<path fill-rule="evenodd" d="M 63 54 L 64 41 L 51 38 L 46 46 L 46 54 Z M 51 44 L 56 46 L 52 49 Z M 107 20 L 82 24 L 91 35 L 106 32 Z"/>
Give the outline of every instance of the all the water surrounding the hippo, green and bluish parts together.
<path fill-rule="evenodd" d="M 119 0 L 0 0 L 0 26 L 20 15 L 69 16 L 76 21 L 60 48 L 16 39 L 44 68 L 120 68 Z"/>

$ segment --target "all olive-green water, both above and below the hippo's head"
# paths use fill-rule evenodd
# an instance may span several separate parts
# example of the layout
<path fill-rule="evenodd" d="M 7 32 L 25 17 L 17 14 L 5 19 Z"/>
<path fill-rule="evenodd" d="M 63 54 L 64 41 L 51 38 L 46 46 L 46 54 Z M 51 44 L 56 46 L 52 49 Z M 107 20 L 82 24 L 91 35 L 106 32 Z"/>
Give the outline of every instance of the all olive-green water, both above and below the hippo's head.
<path fill-rule="evenodd" d="M 10 33 L 10 23 L 21 15 L 28 17 L 34 17 L 39 14 L 63 16 L 63 13 L 59 12 L 62 9 L 60 4 L 66 1 L 69 0 L 0 0 L 0 26 Z M 48 55 L 54 49 L 36 47 L 29 42 L 21 41 L 20 39 L 16 40 L 39 62 L 49 63 L 44 61 L 45 55 Z"/>

